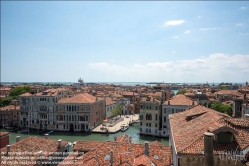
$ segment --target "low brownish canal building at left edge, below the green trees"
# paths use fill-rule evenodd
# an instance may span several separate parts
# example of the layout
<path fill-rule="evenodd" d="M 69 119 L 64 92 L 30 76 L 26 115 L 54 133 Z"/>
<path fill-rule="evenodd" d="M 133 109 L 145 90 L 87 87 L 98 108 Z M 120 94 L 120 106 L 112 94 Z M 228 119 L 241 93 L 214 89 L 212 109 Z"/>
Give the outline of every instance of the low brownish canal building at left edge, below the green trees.
<path fill-rule="evenodd" d="M 0 125 L 4 127 L 18 126 L 19 105 L 18 100 L 12 100 L 10 105 L 0 107 Z"/>

